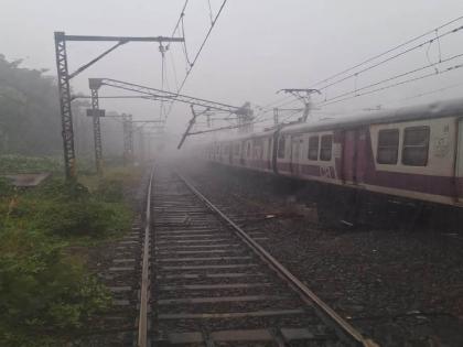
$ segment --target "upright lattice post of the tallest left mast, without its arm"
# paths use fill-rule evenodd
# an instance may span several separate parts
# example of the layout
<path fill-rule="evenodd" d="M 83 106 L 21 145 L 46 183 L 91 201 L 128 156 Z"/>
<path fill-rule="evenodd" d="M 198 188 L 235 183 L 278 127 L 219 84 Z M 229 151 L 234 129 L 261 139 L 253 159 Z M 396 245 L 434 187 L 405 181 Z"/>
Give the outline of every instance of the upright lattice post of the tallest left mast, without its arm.
<path fill-rule="evenodd" d="M 55 54 L 57 67 L 57 82 L 61 107 L 61 124 L 64 148 L 64 173 L 67 181 L 75 180 L 75 151 L 73 115 L 71 111 L 71 87 L 67 69 L 66 40 L 64 32 L 55 32 Z"/>

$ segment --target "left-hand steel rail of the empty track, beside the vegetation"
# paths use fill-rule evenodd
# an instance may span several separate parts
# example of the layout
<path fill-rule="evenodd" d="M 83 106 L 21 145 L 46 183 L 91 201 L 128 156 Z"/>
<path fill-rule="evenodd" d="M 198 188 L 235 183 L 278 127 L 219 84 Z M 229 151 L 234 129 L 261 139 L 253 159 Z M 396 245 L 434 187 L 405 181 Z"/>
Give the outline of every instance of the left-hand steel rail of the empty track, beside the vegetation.
<path fill-rule="evenodd" d="M 153 181 L 153 172 L 151 170 L 150 183 L 147 194 L 146 226 L 143 239 L 143 258 L 141 264 L 141 289 L 140 289 L 140 315 L 138 318 L 138 346 L 148 346 L 148 289 L 150 286 L 149 267 L 150 267 L 150 232 L 151 232 L 151 189 Z"/>

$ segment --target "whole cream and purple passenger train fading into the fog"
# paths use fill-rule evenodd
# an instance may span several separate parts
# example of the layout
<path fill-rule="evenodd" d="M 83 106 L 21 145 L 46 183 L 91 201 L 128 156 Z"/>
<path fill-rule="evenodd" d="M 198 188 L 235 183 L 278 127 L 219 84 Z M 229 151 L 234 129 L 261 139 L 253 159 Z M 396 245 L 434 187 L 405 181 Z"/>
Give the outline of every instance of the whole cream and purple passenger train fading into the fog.
<path fill-rule="evenodd" d="M 463 99 L 281 126 L 201 151 L 225 165 L 463 206 Z"/>

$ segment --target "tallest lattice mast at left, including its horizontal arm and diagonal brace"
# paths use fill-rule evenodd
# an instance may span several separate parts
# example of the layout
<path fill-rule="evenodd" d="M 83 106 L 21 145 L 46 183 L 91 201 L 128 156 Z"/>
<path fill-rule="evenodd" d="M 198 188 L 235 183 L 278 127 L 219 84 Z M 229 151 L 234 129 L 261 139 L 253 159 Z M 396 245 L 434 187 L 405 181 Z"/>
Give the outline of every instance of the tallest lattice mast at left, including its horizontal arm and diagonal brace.
<path fill-rule="evenodd" d="M 83 35 L 66 35 L 64 32 L 55 32 L 55 55 L 56 69 L 58 80 L 60 109 L 62 120 L 62 135 L 64 149 L 64 167 L 67 181 L 75 180 L 76 176 L 76 155 L 74 150 L 74 129 L 73 115 L 71 111 L 71 86 L 69 80 L 87 69 L 96 62 L 128 42 L 183 42 L 183 37 L 134 37 L 134 36 L 83 36 Z M 85 42 L 117 42 L 116 45 L 106 50 L 104 53 L 91 59 L 87 64 L 77 68 L 69 74 L 67 66 L 66 42 L 68 41 L 85 41 Z"/>

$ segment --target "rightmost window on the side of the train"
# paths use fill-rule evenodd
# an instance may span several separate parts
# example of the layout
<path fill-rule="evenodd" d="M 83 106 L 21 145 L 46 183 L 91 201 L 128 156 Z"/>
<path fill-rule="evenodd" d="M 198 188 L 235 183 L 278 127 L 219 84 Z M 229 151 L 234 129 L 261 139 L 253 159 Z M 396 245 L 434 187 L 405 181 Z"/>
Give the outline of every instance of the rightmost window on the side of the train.
<path fill-rule="evenodd" d="M 403 132 L 402 164 L 426 166 L 429 152 L 429 127 L 406 128 Z"/>

